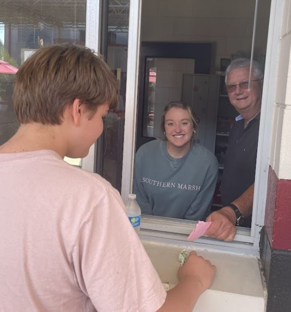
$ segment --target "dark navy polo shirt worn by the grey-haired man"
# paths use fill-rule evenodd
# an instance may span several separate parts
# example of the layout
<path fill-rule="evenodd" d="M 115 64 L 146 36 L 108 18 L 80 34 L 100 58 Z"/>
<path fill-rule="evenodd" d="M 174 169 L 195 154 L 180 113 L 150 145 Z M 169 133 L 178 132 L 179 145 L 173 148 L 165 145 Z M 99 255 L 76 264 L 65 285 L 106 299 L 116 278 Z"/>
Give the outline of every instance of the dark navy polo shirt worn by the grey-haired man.
<path fill-rule="evenodd" d="M 237 199 L 255 182 L 260 114 L 244 129 L 244 119 L 239 115 L 229 136 L 225 155 L 225 169 L 220 186 L 223 206 Z"/>

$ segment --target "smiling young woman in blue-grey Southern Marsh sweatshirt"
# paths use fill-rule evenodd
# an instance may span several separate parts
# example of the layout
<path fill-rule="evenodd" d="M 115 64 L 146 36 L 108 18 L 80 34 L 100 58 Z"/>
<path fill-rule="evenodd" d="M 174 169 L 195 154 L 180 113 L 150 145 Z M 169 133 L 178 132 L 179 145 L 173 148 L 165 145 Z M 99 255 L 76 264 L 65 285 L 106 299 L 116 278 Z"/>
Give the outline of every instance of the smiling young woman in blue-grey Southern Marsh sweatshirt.
<path fill-rule="evenodd" d="M 189 105 L 169 103 L 161 127 L 165 138 L 146 143 L 136 154 L 133 192 L 142 213 L 205 220 L 217 179 L 216 157 L 195 141 L 198 125 Z"/>

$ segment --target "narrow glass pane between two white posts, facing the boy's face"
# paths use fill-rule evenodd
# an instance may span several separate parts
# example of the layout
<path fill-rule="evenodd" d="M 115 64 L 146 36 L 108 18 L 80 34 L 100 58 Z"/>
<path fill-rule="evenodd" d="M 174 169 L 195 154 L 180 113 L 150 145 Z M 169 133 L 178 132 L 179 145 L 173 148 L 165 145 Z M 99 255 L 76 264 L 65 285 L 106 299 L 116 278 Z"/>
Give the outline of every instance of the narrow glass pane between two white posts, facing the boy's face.
<path fill-rule="evenodd" d="M 105 117 L 102 176 L 121 191 L 125 115 L 129 0 L 108 1 L 106 60 L 118 81 L 120 99 L 117 108 Z"/>

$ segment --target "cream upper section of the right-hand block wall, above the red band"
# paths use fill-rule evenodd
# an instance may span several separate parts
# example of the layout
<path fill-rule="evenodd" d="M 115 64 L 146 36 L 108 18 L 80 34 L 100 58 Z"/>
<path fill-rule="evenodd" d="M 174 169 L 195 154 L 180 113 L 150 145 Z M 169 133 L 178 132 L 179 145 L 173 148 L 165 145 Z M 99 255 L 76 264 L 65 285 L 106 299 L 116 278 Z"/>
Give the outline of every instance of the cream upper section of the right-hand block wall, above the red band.
<path fill-rule="evenodd" d="M 285 0 L 274 107 L 270 164 L 279 179 L 291 179 L 291 0 Z"/>

